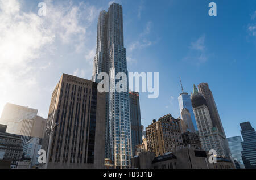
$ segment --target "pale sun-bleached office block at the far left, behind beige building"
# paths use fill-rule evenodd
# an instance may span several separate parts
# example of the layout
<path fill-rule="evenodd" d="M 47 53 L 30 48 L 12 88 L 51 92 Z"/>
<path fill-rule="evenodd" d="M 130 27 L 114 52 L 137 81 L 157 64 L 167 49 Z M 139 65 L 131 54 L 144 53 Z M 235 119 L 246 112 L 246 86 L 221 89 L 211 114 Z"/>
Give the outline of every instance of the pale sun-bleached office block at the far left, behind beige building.
<path fill-rule="evenodd" d="M 0 123 L 7 125 L 6 132 L 17 134 L 18 122 L 22 119 L 34 118 L 37 114 L 37 109 L 7 103 L 3 108 Z"/>

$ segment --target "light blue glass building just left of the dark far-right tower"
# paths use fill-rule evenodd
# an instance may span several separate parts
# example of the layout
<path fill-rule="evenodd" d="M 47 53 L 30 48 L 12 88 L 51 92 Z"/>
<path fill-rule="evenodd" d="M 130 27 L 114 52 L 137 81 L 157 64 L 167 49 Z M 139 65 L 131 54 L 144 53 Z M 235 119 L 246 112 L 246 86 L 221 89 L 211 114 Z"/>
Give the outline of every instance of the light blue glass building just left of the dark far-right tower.
<path fill-rule="evenodd" d="M 229 143 L 229 148 L 231 151 L 231 155 L 237 162 L 241 162 L 243 164 L 242 160 L 242 138 L 241 136 L 234 136 L 230 138 L 226 138 Z"/>

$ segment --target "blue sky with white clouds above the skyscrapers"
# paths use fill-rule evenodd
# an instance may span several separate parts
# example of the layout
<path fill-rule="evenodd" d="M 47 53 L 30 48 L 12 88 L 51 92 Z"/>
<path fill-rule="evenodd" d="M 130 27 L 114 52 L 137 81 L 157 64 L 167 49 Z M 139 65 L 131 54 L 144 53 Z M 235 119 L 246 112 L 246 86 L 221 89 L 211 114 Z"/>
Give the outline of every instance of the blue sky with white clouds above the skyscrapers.
<path fill-rule="evenodd" d="M 38 4 L 46 3 L 46 16 Z M 227 137 L 256 128 L 256 1 L 0 0 L 0 114 L 13 103 L 47 118 L 63 73 L 91 79 L 97 18 L 123 6 L 129 72 L 159 72 L 159 97 L 140 94 L 142 124 L 171 113 L 193 84 L 207 82 Z M 210 2 L 217 16 L 209 16 Z"/>

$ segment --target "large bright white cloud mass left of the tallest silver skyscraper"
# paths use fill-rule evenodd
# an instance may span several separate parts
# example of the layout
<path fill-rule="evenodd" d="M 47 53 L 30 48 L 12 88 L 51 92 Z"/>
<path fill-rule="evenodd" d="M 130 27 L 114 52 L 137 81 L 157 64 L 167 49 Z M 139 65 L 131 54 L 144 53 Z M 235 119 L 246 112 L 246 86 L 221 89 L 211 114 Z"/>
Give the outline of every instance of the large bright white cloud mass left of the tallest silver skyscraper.
<path fill-rule="evenodd" d="M 42 56 L 55 57 L 60 45 L 68 46 L 69 53 L 91 49 L 85 44 L 87 31 L 99 10 L 85 3 L 73 5 L 72 1 L 44 2 L 47 14 L 40 17 L 38 7 L 35 12 L 23 12 L 18 0 L 0 0 L 0 111 L 6 102 L 38 101 L 42 89 L 52 86 L 39 82 L 41 72 L 53 65 L 53 59 Z M 89 73 L 89 58 L 92 52 L 88 50 L 85 68 L 77 72 L 80 76 Z"/>

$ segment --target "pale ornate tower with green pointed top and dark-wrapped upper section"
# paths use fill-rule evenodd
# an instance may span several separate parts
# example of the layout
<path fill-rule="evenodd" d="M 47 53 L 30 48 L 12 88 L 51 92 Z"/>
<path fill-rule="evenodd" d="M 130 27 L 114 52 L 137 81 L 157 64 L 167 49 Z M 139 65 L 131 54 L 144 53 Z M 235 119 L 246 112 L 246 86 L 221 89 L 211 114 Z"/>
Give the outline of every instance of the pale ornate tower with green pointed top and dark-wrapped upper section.
<path fill-rule="evenodd" d="M 225 148 L 226 138 L 218 131 L 218 128 L 213 126 L 207 102 L 204 96 L 198 92 L 195 85 L 191 101 L 196 117 L 197 127 L 199 128 L 199 137 L 202 148 L 205 151 L 214 149 L 217 152 L 217 156 L 230 158 L 229 153 Z"/>

